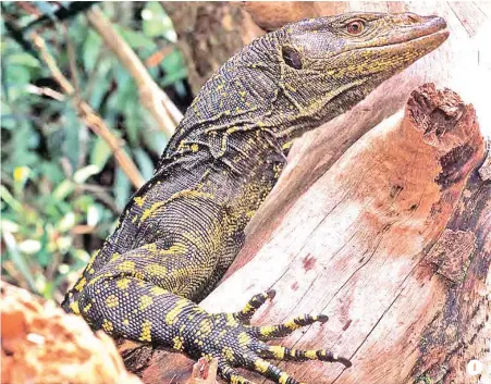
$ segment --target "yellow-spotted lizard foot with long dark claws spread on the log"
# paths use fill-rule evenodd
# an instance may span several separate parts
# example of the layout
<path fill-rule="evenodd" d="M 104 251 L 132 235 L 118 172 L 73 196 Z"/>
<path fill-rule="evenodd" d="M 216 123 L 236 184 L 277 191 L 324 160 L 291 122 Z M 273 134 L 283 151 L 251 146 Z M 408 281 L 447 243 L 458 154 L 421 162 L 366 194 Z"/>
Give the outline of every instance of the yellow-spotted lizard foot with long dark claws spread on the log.
<path fill-rule="evenodd" d="M 250 325 L 250 318 L 256 310 L 268 298 L 273 298 L 274 295 L 274 290 L 256 295 L 243 310 L 235 313 L 212 314 L 207 323 L 200 324 L 198 338 L 201 338 L 202 343 L 195 339 L 195 342 L 198 342 L 195 343 L 195 346 L 196 344 L 199 345 L 198 349 L 201 356 L 218 358 L 219 373 L 223 379 L 231 384 L 254 384 L 235 370 L 235 368 L 245 368 L 256 371 L 275 383 L 302 384 L 266 359 L 290 361 L 321 360 L 341 362 L 346 368 L 352 366 L 348 359 L 327 349 L 302 350 L 266 344 L 265 342 L 286 336 L 299 327 L 328 321 L 328 317 L 324 314 L 304 314 L 282 324 Z"/>

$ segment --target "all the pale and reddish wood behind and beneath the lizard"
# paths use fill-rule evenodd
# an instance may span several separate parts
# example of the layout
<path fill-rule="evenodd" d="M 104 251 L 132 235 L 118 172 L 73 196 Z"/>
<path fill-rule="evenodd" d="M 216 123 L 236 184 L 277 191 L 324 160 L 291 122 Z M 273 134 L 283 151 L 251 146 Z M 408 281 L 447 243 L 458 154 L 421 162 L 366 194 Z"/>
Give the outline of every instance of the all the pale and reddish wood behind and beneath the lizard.
<path fill-rule="evenodd" d="M 439 14 L 451 37 L 352 111 L 295 143 L 279 184 L 248 226 L 244 249 L 204 307 L 234 311 L 273 287 L 277 299 L 255 323 L 329 314 L 324 326 L 281 343 L 329 347 L 351 356 L 354 366 L 280 363 L 300 381 L 475 383 L 466 363 L 480 359 L 491 367 L 483 355 L 491 186 L 477 171 L 484 141 L 472 107 L 451 91 L 428 85 L 401 108 L 426 82 L 451 86 L 474 103 L 489 135 L 489 98 L 476 90 L 490 89 L 483 84 L 490 50 L 479 40 L 479 28 L 489 28 L 490 5 L 307 3 L 283 13 L 281 3 L 272 11 L 260 7 L 273 5 L 246 4 L 265 29 L 292 21 L 265 23 L 258 15 L 268 12 L 303 18 L 376 8 Z M 490 174 L 486 164 L 481 175 Z M 130 344 L 121 350 L 146 383 L 186 383 L 194 363 Z"/>

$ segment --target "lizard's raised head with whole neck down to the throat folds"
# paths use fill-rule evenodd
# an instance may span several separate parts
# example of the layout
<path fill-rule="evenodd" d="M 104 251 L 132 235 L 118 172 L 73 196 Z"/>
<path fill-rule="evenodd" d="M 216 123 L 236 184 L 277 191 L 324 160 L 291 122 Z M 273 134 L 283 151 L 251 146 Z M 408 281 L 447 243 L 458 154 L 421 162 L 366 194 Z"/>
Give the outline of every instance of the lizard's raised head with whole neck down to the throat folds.
<path fill-rule="evenodd" d="M 260 126 L 284 145 L 344 113 L 434 50 L 449 36 L 445 27 L 441 17 L 414 13 L 349 13 L 287 24 L 226 61 L 201 88 L 181 127 L 240 132 Z M 220 152 L 223 145 L 217 143 Z"/>

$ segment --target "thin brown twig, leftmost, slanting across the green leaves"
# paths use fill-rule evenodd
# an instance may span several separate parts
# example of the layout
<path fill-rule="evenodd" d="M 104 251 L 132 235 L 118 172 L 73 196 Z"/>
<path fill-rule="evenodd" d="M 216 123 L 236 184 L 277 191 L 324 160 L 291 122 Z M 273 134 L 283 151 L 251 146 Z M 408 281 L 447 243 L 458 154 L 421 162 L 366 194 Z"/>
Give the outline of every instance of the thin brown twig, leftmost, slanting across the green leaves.
<path fill-rule="evenodd" d="M 35 47 L 39 50 L 42 61 L 51 71 L 51 74 L 53 75 L 58 84 L 60 84 L 64 94 L 66 94 L 67 96 L 74 96 L 75 88 L 61 73 L 53 57 L 46 48 L 45 40 L 35 33 L 32 33 L 32 38 Z M 111 129 L 106 125 L 105 121 L 91 109 L 91 107 L 87 102 L 79 99 L 78 97 L 74 98 L 73 102 L 81 119 L 90 127 L 90 129 L 94 131 L 96 135 L 102 137 L 102 139 L 108 144 L 109 148 L 113 152 L 114 158 L 123 172 L 130 178 L 132 184 L 136 188 L 139 188 L 145 183 L 145 181 L 133 160 L 126 154 L 126 152 L 124 152 L 124 150 L 122 150 L 121 140 L 112 134 Z"/>

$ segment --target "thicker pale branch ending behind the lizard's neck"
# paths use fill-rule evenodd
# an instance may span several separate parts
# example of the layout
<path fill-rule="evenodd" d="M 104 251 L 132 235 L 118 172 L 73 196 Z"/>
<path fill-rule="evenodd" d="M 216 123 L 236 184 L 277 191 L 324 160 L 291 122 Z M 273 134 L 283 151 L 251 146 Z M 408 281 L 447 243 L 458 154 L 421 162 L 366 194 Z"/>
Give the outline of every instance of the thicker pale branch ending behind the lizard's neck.
<path fill-rule="evenodd" d="M 105 14 L 97 9 L 91 9 L 87 12 L 87 17 L 105 44 L 115 53 L 135 79 L 142 104 L 150 112 L 160 129 L 165 132 L 169 137 L 172 136 L 175 125 L 183 117 L 181 111 L 151 78 L 139 58 L 115 32 Z"/>

